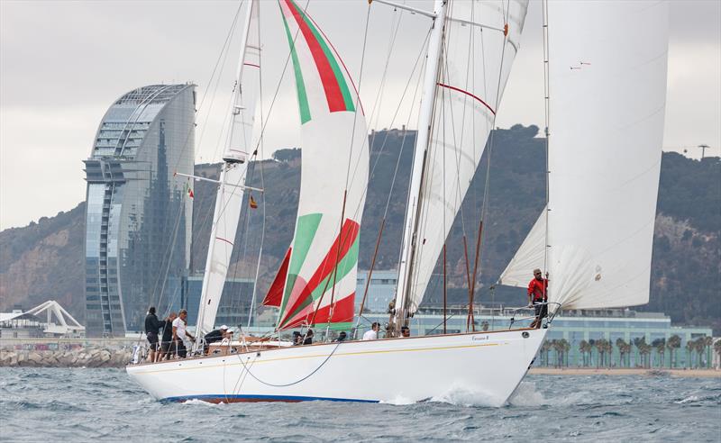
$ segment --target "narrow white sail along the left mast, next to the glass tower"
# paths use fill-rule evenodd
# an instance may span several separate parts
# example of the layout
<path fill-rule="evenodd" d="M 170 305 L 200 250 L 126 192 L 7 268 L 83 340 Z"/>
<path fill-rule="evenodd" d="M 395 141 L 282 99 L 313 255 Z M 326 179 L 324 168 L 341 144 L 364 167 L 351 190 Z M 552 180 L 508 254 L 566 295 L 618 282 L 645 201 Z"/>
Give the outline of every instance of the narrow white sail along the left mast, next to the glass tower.
<path fill-rule="evenodd" d="M 248 170 L 252 150 L 253 120 L 260 92 L 260 41 L 258 30 L 259 5 L 249 1 L 246 13 L 246 41 L 242 59 L 238 64 L 237 80 L 233 89 L 231 128 L 224 150 L 224 164 L 220 173 L 218 194 L 215 198 L 213 227 L 205 262 L 203 289 L 197 315 L 197 334 L 200 336 L 214 328 L 225 277 L 233 253 L 233 242 L 238 231 L 243 199 L 242 185 Z"/>

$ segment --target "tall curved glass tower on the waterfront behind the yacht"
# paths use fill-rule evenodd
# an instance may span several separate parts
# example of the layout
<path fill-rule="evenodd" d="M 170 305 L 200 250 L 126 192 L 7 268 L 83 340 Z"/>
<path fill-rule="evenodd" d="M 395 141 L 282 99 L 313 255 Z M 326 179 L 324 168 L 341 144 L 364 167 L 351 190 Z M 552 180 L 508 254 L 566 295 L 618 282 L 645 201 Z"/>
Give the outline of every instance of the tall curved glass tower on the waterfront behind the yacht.
<path fill-rule="evenodd" d="M 114 102 L 85 160 L 86 331 L 142 330 L 180 303 L 193 218 L 195 85 L 151 85 Z"/>

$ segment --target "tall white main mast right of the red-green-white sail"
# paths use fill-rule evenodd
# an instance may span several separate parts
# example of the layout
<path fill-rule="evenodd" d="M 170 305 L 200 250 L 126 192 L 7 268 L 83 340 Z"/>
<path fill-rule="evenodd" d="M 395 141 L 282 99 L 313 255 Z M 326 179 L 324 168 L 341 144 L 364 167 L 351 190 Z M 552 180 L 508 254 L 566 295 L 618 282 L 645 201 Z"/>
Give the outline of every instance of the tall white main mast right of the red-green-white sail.
<path fill-rule="evenodd" d="M 421 109 L 418 117 L 418 135 L 415 140 L 413 169 L 408 188 L 408 204 L 406 206 L 406 221 L 404 222 L 403 243 L 400 263 L 398 265 L 398 284 L 396 294 L 396 332 L 407 321 L 406 306 L 408 294 L 412 290 L 413 260 L 415 255 L 415 242 L 418 231 L 418 217 L 421 213 L 421 193 L 424 182 L 425 158 L 428 143 L 431 139 L 431 124 L 434 114 L 436 84 L 441 64 L 441 50 L 443 43 L 443 25 L 448 0 L 435 0 L 434 26 L 428 41 L 428 54 L 425 59 L 424 95 L 421 99 Z"/>

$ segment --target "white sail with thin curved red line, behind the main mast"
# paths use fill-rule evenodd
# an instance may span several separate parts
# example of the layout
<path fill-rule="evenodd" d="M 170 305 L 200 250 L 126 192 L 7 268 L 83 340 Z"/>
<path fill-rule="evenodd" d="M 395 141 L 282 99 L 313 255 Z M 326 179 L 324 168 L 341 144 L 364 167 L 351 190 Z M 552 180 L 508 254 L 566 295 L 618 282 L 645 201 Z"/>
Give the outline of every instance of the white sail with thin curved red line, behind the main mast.
<path fill-rule="evenodd" d="M 527 7 L 527 0 L 448 4 L 433 132 L 418 204 L 415 253 L 407 271 L 410 285 L 405 290 L 399 288 L 397 294 L 403 297 L 407 291 L 409 313 L 415 312 L 423 300 L 443 242 L 461 210 L 493 129 Z M 408 210 L 414 211 L 413 206 L 411 202 Z M 401 263 L 401 279 L 405 278 L 404 267 L 406 263 Z M 403 305 L 401 300 L 396 301 L 396 306 Z"/>

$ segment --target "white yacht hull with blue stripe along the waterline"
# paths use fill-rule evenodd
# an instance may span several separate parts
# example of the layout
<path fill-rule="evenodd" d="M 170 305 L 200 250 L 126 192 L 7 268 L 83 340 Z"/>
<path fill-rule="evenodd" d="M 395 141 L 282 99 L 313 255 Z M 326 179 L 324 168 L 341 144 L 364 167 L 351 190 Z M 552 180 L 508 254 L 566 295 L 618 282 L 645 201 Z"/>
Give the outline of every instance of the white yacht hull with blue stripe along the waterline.
<path fill-rule="evenodd" d="M 501 406 L 546 331 L 324 343 L 128 366 L 127 372 L 166 401 L 417 402 L 462 389 Z"/>

